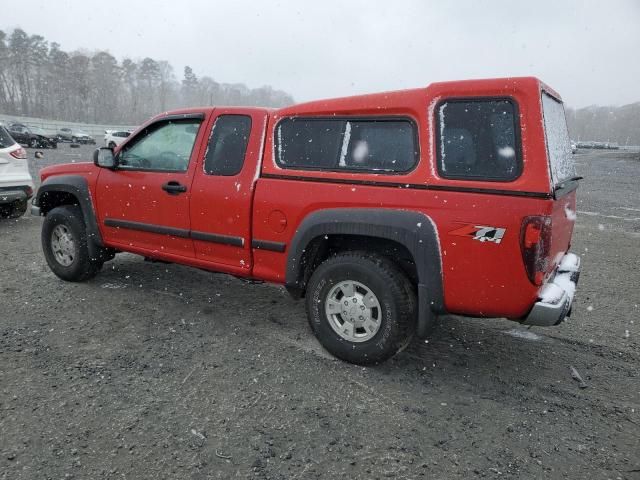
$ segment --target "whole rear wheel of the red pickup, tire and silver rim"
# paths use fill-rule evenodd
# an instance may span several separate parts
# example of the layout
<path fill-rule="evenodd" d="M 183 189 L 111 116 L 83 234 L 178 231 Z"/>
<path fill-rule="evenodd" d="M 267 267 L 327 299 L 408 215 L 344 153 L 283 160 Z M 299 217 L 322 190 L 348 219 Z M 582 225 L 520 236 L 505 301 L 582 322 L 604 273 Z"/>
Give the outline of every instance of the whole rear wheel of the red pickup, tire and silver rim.
<path fill-rule="evenodd" d="M 390 260 L 364 252 L 321 264 L 307 287 L 309 323 L 334 356 L 359 365 L 382 362 L 404 349 L 415 332 L 416 294 Z"/>

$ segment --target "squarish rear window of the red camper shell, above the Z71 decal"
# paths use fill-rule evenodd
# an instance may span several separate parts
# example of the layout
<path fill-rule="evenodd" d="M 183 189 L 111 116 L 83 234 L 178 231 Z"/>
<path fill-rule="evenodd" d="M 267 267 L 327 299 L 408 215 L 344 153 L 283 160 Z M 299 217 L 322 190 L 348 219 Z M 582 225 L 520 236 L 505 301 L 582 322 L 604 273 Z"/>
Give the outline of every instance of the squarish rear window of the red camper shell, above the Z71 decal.
<path fill-rule="evenodd" d="M 510 181 L 520 175 L 520 127 L 510 99 L 446 100 L 436 115 L 441 177 Z"/>

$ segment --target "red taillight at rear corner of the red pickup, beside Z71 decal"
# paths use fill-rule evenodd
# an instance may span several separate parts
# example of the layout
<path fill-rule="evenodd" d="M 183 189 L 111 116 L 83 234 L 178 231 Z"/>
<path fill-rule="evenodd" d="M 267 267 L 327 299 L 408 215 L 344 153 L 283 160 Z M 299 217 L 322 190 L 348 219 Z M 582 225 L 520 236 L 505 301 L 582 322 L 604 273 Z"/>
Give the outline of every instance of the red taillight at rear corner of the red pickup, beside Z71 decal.
<path fill-rule="evenodd" d="M 522 260 L 534 285 L 542 285 L 551 249 L 551 217 L 526 217 L 520 235 Z"/>

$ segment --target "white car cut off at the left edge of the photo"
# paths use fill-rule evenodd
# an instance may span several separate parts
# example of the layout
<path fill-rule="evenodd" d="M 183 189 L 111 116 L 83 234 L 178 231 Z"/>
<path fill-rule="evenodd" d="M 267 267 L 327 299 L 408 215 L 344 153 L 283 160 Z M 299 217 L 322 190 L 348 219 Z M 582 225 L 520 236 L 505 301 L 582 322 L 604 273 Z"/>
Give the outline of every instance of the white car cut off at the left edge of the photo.
<path fill-rule="evenodd" d="M 27 151 L 0 126 L 0 218 L 18 218 L 33 195 Z"/>

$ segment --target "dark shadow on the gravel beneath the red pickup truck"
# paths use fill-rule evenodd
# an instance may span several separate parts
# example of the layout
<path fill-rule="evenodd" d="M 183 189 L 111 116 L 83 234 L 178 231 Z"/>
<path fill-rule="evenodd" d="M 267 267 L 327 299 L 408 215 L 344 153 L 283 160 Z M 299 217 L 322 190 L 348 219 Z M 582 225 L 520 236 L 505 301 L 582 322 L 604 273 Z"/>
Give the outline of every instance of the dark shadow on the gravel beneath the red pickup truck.
<path fill-rule="evenodd" d="M 161 304 L 163 310 L 187 305 L 204 312 L 204 318 L 208 315 L 211 320 L 201 327 L 205 335 L 224 336 L 235 331 L 255 337 L 255 348 L 295 347 L 319 361 L 339 362 L 313 336 L 304 302 L 291 299 L 283 288 L 178 265 L 143 262 L 133 255 L 107 263 L 91 283 L 105 292 L 112 289 L 112 296 L 123 301 L 132 301 L 134 295 L 134 301 L 153 299 L 147 301 Z M 527 330 L 508 320 L 444 316 L 428 340 L 414 339 L 405 351 L 368 370 L 382 377 L 400 375 L 405 382 L 478 386 L 484 382 L 495 387 L 497 381 L 522 386 L 539 383 L 545 372 L 553 371 L 558 356 L 566 356 L 570 362 L 570 355 L 575 355 L 570 347 L 544 335 L 541 329 Z M 353 371 L 361 368 L 344 365 Z"/>

